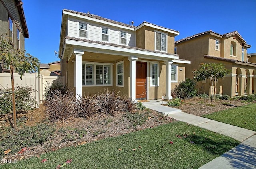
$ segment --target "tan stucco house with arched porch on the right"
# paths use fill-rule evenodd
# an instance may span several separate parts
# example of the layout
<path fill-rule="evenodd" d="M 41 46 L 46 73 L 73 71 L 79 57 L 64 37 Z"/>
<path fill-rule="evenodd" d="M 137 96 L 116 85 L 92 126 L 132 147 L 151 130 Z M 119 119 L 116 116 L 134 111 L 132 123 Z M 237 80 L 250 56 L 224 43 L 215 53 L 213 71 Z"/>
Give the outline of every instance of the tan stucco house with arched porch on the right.
<path fill-rule="evenodd" d="M 231 74 L 224 79 L 217 79 L 216 93 L 229 96 L 243 96 L 245 92 L 252 94 L 256 91 L 256 62 L 247 61 L 247 49 L 251 46 L 237 32 L 223 35 L 213 31 L 206 31 L 180 39 L 175 42 L 175 50 L 180 58 L 191 60 L 186 67 L 186 78 L 193 78 L 193 71 L 200 63 L 224 63 Z M 247 85 L 246 85 L 247 84 Z M 213 86 L 212 86 L 213 87 Z M 209 80 L 198 83 L 201 93 L 209 92 Z"/>

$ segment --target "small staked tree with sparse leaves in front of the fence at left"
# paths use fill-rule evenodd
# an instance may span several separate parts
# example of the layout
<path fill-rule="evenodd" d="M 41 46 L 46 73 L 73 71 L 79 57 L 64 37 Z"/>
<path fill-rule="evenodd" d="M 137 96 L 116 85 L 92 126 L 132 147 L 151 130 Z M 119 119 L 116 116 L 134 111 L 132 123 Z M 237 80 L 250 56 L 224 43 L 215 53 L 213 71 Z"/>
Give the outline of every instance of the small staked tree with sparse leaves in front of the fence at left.
<path fill-rule="evenodd" d="M 7 33 L 6 33 L 7 34 Z M 39 60 L 33 57 L 26 51 L 14 49 L 14 47 L 6 41 L 4 34 L 0 35 L 0 61 L 10 66 L 10 75 L 12 83 L 12 107 L 13 107 L 13 127 L 16 131 L 16 110 L 15 110 L 15 94 L 14 94 L 14 78 L 13 71 L 19 73 L 20 79 L 22 75 L 28 72 L 38 71 L 39 74 Z"/>

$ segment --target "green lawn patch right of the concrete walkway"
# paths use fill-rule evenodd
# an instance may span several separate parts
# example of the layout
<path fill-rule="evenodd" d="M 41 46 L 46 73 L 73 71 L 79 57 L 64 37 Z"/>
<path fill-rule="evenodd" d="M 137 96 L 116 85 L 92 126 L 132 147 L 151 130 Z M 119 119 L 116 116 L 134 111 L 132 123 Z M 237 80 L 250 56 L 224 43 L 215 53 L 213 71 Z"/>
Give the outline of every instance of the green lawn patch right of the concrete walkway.
<path fill-rule="evenodd" d="M 256 104 L 222 110 L 202 117 L 256 131 Z"/>

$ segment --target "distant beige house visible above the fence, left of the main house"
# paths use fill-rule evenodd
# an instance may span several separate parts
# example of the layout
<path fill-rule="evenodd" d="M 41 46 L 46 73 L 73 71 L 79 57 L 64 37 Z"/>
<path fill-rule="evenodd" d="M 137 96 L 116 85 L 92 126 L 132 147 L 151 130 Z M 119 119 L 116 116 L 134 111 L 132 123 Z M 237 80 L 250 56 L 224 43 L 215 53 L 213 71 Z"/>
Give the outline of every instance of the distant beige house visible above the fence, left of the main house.
<path fill-rule="evenodd" d="M 60 76 L 60 61 L 51 62 L 51 63 L 40 63 L 40 74 L 47 75 L 47 76 Z"/>

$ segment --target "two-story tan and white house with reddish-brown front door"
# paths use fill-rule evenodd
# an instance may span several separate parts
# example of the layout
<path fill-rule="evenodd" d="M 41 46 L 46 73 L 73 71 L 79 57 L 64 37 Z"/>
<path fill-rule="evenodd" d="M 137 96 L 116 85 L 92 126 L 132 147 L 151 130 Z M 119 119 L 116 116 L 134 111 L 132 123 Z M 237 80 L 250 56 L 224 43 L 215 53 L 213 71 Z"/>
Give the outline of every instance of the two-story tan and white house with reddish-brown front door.
<path fill-rule="evenodd" d="M 174 54 L 178 31 L 142 22 L 133 26 L 63 10 L 61 74 L 77 95 L 120 90 L 133 99 L 172 99 L 190 61 Z"/>

